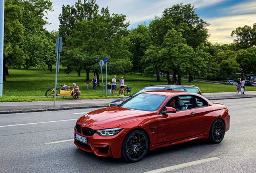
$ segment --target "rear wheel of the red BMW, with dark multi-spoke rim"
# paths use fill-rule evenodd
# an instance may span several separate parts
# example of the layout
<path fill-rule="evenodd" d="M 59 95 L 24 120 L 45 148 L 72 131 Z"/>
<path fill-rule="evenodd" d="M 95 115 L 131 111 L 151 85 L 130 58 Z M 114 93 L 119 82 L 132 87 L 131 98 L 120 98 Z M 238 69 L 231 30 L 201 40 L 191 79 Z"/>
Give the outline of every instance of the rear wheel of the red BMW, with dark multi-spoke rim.
<path fill-rule="evenodd" d="M 209 138 L 206 139 L 206 141 L 217 144 L 223 140 L 224 135 L 225 135 L 225 124 L 221 119 L 216 119 L 215 121 L 213 121 L 213 124 L 211 125 Z"/>

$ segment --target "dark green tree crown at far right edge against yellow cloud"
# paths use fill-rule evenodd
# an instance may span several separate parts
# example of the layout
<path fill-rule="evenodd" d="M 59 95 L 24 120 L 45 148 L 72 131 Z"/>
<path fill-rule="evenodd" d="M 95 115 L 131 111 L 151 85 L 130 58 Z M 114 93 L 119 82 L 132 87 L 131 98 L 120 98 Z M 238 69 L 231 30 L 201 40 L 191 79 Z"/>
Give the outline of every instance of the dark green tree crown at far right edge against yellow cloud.
<path fill-rule="evenodd" d="M 256 24 L 253 24 L 252 27 L 248 25 L 239 26 L 231 32 L 231 36 L 234 35 L 236 35 L 234 43 L 237 50 L 256 46 Z"/>

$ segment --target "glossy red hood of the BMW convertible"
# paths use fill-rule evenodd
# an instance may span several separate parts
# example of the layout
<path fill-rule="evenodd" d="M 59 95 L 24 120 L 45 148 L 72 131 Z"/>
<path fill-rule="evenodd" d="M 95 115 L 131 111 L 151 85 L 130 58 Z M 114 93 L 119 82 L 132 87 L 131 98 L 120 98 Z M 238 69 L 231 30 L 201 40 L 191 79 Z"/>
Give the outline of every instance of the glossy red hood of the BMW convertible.
<path fill-rule="evenodd" d="M 150 117 L 152 114 L 153 112 L 149 111 L 114 106 L 92 111 L 80 117 L 78 121 L 85 123 L 85 127 L 97 126 L 108 129 L 135 119 Z"/>

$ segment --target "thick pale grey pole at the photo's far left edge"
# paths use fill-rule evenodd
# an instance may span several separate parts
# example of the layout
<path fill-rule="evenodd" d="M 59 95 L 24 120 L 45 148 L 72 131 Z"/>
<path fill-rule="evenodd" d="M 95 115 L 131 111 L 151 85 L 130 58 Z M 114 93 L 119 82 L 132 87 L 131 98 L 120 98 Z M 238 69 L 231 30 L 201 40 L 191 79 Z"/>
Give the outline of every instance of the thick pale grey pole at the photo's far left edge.
<path fill-rule="evenodd" d="M 0 97 L 3 96 L 4 71 L 4 0 L 0 0 Z"/>

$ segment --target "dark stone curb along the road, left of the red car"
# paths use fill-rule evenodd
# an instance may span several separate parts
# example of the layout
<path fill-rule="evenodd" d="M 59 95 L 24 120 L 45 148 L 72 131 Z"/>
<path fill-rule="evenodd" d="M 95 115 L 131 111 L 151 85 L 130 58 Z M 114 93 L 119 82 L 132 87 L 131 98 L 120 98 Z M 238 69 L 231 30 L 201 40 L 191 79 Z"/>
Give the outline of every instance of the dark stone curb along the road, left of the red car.
<path fill-rule="evenodd" d="M 47 109 L 26 109 L 26 110 L 16 110 L 16 111 L 0 111 L 0 114 L 31 113 L 31 112 L 45 112 L 45 111 L 62 111 L 62 110 L 71 110 L 71 109 L 89 109 L 89 108 L 100 108 L 100 107 L 107 107 L 107 105 L 47 108 Z"/>

